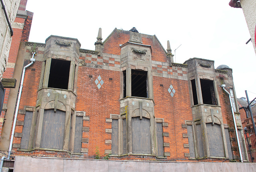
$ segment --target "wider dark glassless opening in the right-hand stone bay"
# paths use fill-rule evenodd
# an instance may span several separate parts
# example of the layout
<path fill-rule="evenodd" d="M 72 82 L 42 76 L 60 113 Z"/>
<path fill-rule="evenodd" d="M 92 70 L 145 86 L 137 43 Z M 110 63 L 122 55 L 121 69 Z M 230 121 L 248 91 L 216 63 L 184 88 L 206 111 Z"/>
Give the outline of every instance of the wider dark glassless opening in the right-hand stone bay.
<path fill-rule="evenodd" d="M 214 93 L 213 81 L 200 79 L 203 103 L 207 105 L 217 105 Z"/>

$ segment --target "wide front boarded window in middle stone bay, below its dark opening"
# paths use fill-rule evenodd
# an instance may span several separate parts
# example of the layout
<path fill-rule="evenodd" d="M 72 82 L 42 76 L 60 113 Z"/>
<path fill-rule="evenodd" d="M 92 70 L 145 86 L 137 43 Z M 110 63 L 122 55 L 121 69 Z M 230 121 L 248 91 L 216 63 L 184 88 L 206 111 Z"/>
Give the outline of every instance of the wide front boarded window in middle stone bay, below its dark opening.
<path fill-rule="evenodd" d="M 149 119 L 132 118 L 132 152 L 151 154 Z"/>

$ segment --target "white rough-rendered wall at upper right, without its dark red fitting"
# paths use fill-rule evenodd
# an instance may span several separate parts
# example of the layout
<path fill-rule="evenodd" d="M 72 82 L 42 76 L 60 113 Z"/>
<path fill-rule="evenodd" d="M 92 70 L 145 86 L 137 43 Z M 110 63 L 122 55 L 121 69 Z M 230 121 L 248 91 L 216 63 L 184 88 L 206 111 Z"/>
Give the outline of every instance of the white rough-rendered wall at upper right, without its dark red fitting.
<path fill-rule="evenodd" d="M 254 33 L 255 33 L 255 24 L 256 24 L 256 0 L 240 0 L 244 17 L 252 38 L 252 44 L 254 51 L 256 53 Z"/>

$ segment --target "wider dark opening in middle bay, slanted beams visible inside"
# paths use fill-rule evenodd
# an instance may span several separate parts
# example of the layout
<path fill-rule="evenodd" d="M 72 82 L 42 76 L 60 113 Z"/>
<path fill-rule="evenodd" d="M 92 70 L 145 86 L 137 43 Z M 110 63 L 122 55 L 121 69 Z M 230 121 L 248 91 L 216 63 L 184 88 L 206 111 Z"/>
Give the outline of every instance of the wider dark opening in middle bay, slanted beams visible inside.
<path fill-rule="evenodd" d="M 148 97 L 148 77 L 146 71 L 132 70 L 132 96 Z"/>

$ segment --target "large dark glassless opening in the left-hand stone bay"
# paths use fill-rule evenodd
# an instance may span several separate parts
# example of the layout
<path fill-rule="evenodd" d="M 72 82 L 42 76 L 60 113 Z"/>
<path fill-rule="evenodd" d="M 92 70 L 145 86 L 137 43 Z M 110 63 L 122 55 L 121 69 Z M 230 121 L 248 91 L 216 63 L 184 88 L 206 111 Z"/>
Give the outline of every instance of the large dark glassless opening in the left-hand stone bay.
<path fill-rule="evenodd" d="M 70 61 L 52 59 L 48 87 L 68 89 Z"/>

